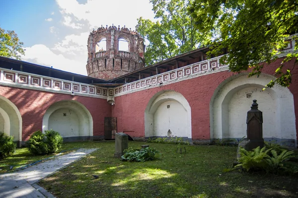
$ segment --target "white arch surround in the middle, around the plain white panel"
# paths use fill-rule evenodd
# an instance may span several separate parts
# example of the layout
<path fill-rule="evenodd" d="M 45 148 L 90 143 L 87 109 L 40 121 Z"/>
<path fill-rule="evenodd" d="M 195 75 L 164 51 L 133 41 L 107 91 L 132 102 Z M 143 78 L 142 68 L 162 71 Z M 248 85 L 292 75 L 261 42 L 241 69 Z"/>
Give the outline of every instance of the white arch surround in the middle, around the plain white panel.
<path fill-rule="evenodd" d="M 145 110 L 145 136 L 159 136 L 154 132 L 154 114 L 157 109 L 165 102 L 173 101 L 181 105 L 186 114 L 186 129 L 183 136 L 192 137 L 191 133 L 191 108 L 188 101 L 181 93 L 166 90 L 156 93 L 150 100 Z M 166 136 L 166 135 L 164 135 Z M 178 136 L 178 135 L 177 135 Z"/>

